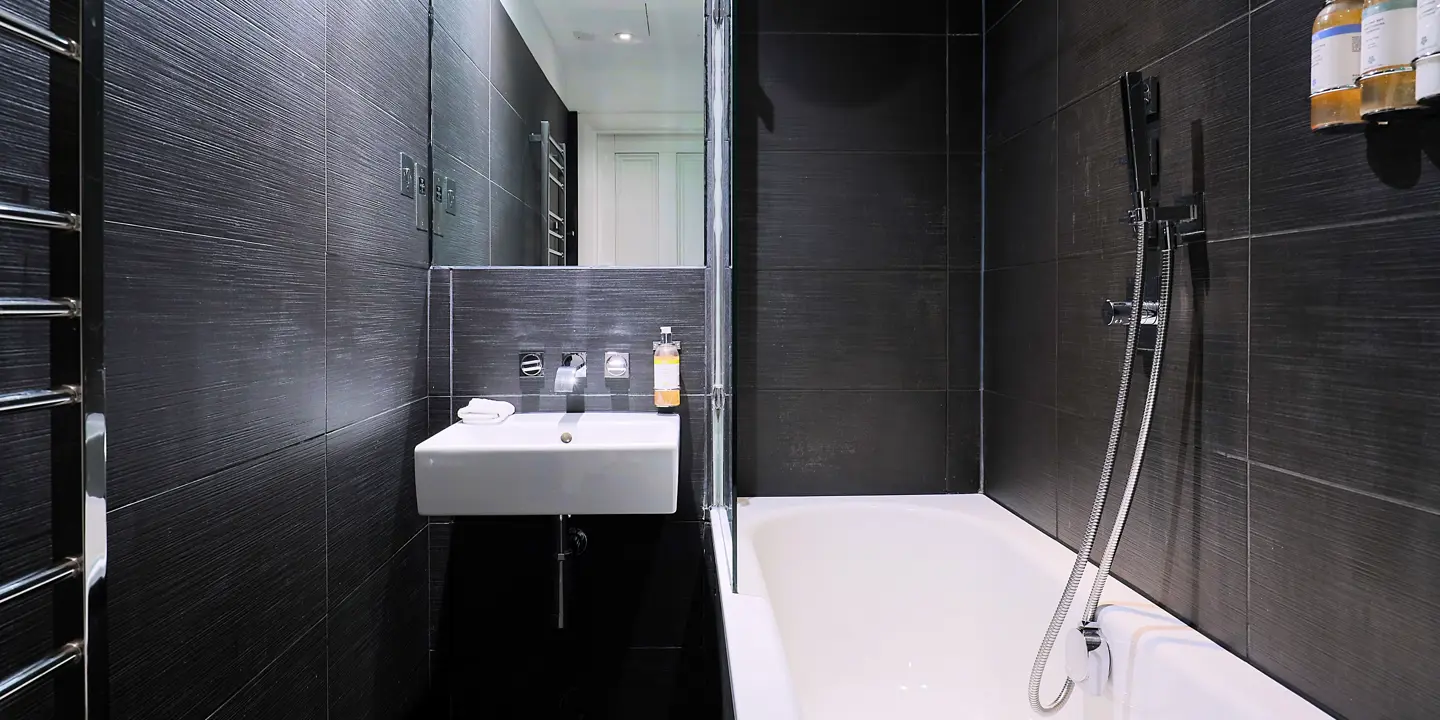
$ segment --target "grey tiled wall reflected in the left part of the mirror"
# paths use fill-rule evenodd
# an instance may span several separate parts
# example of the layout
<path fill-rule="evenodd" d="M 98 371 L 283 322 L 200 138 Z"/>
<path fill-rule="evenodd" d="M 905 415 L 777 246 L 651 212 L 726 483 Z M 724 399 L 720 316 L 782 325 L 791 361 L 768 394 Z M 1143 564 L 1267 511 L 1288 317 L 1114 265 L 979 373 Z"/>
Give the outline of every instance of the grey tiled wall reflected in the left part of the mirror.
<path fill-rule="evenodd" d="M 498 0 L 436 0 L 431 154 L 458 181 L 459 216 L 436 265 L 544 265 L 540 122 L 563 141 L 569 109 Z"/>

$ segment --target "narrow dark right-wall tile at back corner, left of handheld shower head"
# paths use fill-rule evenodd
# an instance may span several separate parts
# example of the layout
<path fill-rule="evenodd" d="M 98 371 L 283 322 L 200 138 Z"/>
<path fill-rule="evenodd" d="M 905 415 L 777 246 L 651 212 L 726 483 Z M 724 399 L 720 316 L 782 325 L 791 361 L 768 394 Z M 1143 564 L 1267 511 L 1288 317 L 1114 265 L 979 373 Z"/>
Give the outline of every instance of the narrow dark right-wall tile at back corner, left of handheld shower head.
<path fill-rule="evenodd" d="M 985 268 L 1054 259 L 1056 121 L 992 144 L 985 173 Z"/>

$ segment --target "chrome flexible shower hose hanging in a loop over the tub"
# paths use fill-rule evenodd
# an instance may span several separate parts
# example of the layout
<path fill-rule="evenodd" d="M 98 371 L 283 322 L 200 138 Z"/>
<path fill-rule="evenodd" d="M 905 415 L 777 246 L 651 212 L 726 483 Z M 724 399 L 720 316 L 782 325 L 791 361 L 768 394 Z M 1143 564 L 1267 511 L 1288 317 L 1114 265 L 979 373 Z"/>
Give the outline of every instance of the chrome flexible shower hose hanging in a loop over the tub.
<path fill-rule="evenodd" d="M 1066 589 L 1061 593 L 1060 605 L 1056 608 L 1056 613 L 1050 619 L 1050 626 L 1045 628 L 1045 636 L 1040 642 L 1040 652 L 1035 654 L 1035 664 L 1030 670 L 1030 707 L 1035 713 L 1041 714 L 1053 713 L 1064 706 L 1066 700 L 1070 697 L 1070 691 L 1074 688 L 1074 683 L 1067 677 L 1064 685 L 1060 688 L 1058 697 L 1056 697 L 1054 701 L 1045 703 L 1040 697 L 1040 685 L 1045 677 L 1045 665 L 1050 662 L 1050 654 L 1054 651 L 1056 641 L 1060 638 L 1060 631 L 1066 624 L 1066 615 L 1070 613 L 1070 606 L 1074 603 L 1076 592 L 1079 592 L 1080 582 L 1084 579 L 1084 569 L 1090 560 L 1090 550 L 1094 549 L 1094 537 L 1100 530 L 1100 518 L 1104 514 L 1104 501 L 1109 497 L 1110 480 L 1115 475 L 1115 456 L 1120 449 L 1120 433 L 1125 428 L 1125 410 L 1130 396 L 1130 372 L 1133 369 L 1135 346 L 1142 324 L 1142 308 L 1145 300 L 1146 223 L 1143 220 L 1138 220 L 1135 222 L 1133 229 L 1135 284 L 1130 292 L 1130 307 L 1135 308 L 1135 315 L 1132 317 L 1130 324 L 1126 325 L 1125 360 L 1120 363 L 1120 387 L 1115 399 L 1115 418 L 1110 422 L 1110 439 L 1104 449 L 1104 465 L 1100 469 L 1100 484 L 1094 492 L 1094 504 L 1090 507 L 1090 520 L 1086 523 L 1084 539 L 1076 553 L 1076 562 L 1070 569 L 1070 579 L 1066 580 Z M 1164 360 L 1165 348 L 1165 323 L 1169 315 L 1169 284 L 1171 253 L 1169 251 L 1164 251 L 1161 252 L 1161 301 L 1155 320 L 1155 356 L 1153 364 L 1151 366 L 1149 390 L 1145 395 L 1145 413 L 1140 420 L 1140 438 L 1135 448 L 1135 459 L 1130 462 L 1125 495 L 1120 498 L 1120 511 L 1116 516 L 1115 528 L 1110 531 L 1110 539 L 1106 543 L 1104 556 L 1100 563 L 1100 573 L 1096 576 L 1094 588 L 1090 590 L 1090 599 L 1086 602 L 1081 622 L 1090 622 L 1094 619 L 1096 608 L 1100 603 L 1100 593 L 1104 592 L 1104 579 L 1115 560 L 1115 550 L 1119 547 L 1120 531 L 1125 528 L 1125 518 L 1129 514 L 1130 501 L 1135 498 L 1135 484 L 1139 478 L 1140 465 L 1145 459 L 1145 445 L 1149 438 L 1151 418 L 1155 410 L 1155 395 L 1159 389 L 1161 363 Z"/>

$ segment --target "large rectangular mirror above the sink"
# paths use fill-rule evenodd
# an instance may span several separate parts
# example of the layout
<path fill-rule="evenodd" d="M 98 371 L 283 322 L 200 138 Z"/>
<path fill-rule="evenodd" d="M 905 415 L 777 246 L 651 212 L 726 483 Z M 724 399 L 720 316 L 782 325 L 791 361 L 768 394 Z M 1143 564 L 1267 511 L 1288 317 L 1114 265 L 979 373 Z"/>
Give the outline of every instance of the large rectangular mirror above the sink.
<path fill-rule="evenodd" d="M 704 265 L 704 0 L 432 3 L 433 265 Z"/>

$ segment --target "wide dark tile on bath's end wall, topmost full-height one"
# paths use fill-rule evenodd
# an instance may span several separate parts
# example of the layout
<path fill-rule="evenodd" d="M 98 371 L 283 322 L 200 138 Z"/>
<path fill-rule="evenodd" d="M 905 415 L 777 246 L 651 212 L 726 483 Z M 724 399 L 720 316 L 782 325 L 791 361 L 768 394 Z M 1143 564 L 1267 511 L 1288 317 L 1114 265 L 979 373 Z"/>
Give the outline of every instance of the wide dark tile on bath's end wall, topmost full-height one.
<path fill-rule="evenodd" d="M 945 37 L 736 37 L 736 131 L 763 150 L 943 153 Z"/>

